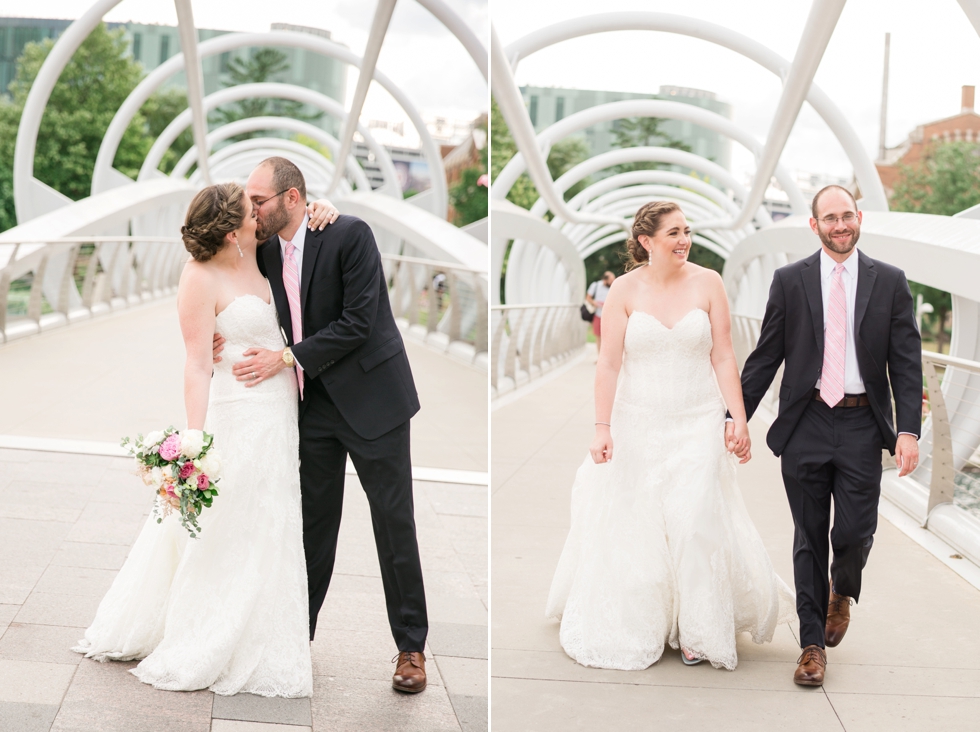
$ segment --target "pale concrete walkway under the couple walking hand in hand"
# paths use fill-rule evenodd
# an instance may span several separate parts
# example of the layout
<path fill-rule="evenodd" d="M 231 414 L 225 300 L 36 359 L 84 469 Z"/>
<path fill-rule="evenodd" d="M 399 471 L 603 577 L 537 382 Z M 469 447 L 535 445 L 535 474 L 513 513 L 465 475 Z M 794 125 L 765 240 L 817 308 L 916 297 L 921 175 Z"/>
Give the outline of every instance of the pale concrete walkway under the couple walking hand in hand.
<path fill-rule="evenodd" d="M 772 643 L 743 634 L 733 672 L 680 654 L 644 671 L 579 666 L 545 619 L 570 521 L 575 471 L 593 436 L 594 350 L 498 399 L 492 412 L 492 719 L 500 730 L 976 729 L 980 715 L 980 568 L 883 499 L 859 605 L 828 649 L 820 689 L 793 683 L 798 629 Z M 793 583 L 793 520 L 766 412 L 750 423 L 739 487 L 776 572 Z M 886 471 L 886 475 L 887 475 Z M 894 469 L 891 470 L 894 473 Z"/>

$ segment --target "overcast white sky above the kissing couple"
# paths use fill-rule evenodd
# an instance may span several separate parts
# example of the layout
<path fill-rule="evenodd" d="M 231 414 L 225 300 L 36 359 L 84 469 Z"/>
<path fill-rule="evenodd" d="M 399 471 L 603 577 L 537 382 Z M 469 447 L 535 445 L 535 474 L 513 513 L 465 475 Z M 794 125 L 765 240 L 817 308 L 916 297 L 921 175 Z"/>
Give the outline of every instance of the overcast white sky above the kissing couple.
<path fill-rule="evenodd" d="M 473 29 L 487 39 L 487 0 L 445 0 Z M 69 18 L 90 0 L 0 0 L 0 16 Z M 193 0 L 194 22 L 200 28 L 267 31 L 272 23 L 324 28 L 355 53 L 364 53 L 375 0 Z M 107 21 L 176 25 L 173 0 L 122 0 Z M 486 40 L 484 40 L 486 42 Z M 487 85 L 469 54 L 427 10 L 413 0 L 395 6 L 378 68 L 400 87 L 423 115 L 472 119 L 487 109 Z M 356 75 L 348 80 L 352 94 Z M 401 119 L 387 93 L 374 85 L 364 117 Z"/>

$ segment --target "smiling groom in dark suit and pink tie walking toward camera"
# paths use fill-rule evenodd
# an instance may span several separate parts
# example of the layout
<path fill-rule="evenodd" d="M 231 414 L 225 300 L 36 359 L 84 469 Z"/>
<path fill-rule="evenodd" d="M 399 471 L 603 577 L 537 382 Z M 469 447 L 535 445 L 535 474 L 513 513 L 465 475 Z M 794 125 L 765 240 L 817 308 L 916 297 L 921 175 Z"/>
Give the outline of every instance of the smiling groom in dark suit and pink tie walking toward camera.
<path fill-rule="evenodd" d="M 742 370 L 751 418 L 786 363 L 766 441 L 782 459 L 796 524 L 803 654 L 793 680 L 803 686 L 823 684 L 825 646 L 840 643 L 851 599 L 861 594 L 878 524 L 881 451 L 895 455 L 899 476 L 912 472 L 922 421 L 922 343 L 905 273 L 855 248 L 862 217 L 846 188 L 821 190 L 812 213 L 821 249 L 776 271 L 759 343 Z"/>

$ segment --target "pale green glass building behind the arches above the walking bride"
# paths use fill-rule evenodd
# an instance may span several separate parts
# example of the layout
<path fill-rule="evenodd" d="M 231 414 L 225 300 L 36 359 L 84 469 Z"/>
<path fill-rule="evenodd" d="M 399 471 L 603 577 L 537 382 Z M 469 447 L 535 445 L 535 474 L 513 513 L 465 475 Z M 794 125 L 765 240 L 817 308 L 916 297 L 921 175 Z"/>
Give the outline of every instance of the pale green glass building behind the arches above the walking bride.
<path fill-rule="evenodd" d="M 535 132 L 541 132 L 555 122 L 583 109 L 631 99 L 660 99 L 693 104 L 727 119 L 731 119 L 732 116 L 731 105 L 719 101 L 713 92 L 678 86 L 662 86 L 656 94 L 525 86 L 521 88 L 521 94 Z M 613 133 L 618 125 L 618 120 L 602 122 L 580 133 L 592 155 L 608 152 L 615 147 Z M 661 129 L 671 137 L 687 144 L 695 155 L 708 158 L 723 168 L 730 169 L 731 140 L 724 135 L 690 122 L 672 119 L 664 120 Z"/>

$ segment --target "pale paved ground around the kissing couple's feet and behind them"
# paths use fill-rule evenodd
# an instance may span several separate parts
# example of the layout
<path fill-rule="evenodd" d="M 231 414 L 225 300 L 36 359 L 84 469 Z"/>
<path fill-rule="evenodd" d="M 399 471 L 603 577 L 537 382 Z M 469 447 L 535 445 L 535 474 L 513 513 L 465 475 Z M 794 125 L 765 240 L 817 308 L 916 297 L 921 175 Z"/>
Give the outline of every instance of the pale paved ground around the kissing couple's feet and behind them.
<path fill-rule="evenodd" d="M 0 346 L 0 729 L 486 729 L 486 369 L 403 319 L 430 684 L 392 691 L 367 500 L 350 470 L 337 567 L 313 644 L 314 697 L 156 691 L 68 649 L 146 520 L 124 435 L 184 424 L 183 342 L 166 296 Z M 436 334 L 438 335 L 438 334 Z M 435 345 L 433 345 L 435 344 Z M 277 727 L 278 729 L 278 727 Z"/>

